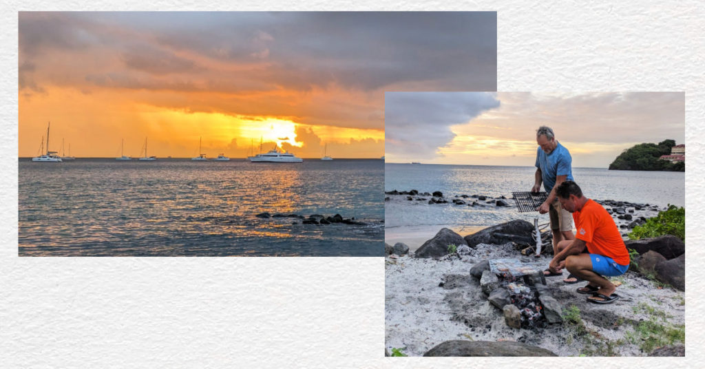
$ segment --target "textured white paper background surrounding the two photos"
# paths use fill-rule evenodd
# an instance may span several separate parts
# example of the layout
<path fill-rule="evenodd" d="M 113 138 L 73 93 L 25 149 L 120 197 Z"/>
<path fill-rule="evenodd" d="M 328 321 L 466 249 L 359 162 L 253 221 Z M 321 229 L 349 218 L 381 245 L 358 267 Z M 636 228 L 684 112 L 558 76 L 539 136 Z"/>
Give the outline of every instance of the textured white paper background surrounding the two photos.
<path fill-rule="evenodd" d="M 685 90 L 686 358 L 540 362 L 691 368 L 701 367 L 705 346 L 697 270 L 705 260 L 705 11 L 701 1 L 664 3 L 172 0 L 145 8 L 126 0 L 85 9 L 498 11 L 498 90 Z M 18 258 L 17 11 L 78 7 L 31 0 L 1 8 L 0 368 L 536 366 L 529 358 L 384 358 L 381 258 Z"/>

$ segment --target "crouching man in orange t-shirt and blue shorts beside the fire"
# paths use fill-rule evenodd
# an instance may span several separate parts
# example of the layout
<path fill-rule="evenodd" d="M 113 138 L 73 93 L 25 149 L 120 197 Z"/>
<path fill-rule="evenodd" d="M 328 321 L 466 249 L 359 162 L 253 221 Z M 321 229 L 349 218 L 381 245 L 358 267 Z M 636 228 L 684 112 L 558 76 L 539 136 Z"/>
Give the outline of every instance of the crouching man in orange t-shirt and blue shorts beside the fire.
<path fill-rule="evenodd" d="M 575 222 L 575 240 L 560 241 L 548 270 L 569 272 L 589 282 L 577 289 L 579 294 L 591 294 L 591 303 L 613 303 L 619 296 L 617 287 L 602 276 L 618 276 L 629 268 L 629 252 L 619 229 L 610 214 L 601 205 L 582 195 L 573 181 L 560 183 L 556 188 L 563 209 L 572 213 Z M 587 248 L 588 253 L 582 253 Z"/>

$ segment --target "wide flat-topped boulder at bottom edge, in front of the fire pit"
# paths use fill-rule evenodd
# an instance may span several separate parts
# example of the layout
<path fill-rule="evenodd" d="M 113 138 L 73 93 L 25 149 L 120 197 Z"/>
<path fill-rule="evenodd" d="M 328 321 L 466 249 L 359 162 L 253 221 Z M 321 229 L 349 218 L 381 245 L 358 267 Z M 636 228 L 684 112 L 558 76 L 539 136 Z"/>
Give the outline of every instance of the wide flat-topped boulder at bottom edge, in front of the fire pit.
<path fill-rule="evenodd" d="M 445 341 L 424 356 L 557 356 L 556 353 L 515 341 Z"/>

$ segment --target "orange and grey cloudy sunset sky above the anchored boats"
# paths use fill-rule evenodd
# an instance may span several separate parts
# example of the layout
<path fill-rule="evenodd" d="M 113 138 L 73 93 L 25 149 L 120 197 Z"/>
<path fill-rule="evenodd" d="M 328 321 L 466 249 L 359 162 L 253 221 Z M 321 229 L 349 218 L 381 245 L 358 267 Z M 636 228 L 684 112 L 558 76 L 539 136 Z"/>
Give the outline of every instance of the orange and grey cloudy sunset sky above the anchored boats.
<path fill-rule="evenodd" d="M 379 158 L 414 90 L 496 90 L 496 13 L 19 13 L 20 157 Z"/>

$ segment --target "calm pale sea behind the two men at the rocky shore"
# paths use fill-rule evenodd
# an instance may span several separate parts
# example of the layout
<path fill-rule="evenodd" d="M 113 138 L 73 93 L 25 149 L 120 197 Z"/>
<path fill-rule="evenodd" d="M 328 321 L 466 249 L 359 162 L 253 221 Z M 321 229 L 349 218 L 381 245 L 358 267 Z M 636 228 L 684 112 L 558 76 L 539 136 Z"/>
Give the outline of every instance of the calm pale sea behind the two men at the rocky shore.
<path fill-rule="evenodd" d="M 422 193 L 433 193 L 440 190 L 446 198 L 455 195 L 488 195 L 497 198 L 504 195 L 510 205 L 429 205 L 426 201 L 406 201 L 405 196 L 397 196 L 385 202 L 386 238 L 406 239 L 404 235 L 417 234 L 425 239 L 444 226 L 467 229 L 469 231 L 466 234 L 469 234 L 470 231 L 513 219 L 533 222 L 534 217 L 539 217 L 540 223 L 547 223 L 548 214 L 520 213 L 514 200 L 511 200 L 512 192 L 531 190 L 535 171 L 535 167 L 385 164 L 385 191 L 415 189 Z M 573 168 L 572 173 L 588 198 L 648 203 L 658 207 L 666 207 L 668 204 L 685 206 L 683 172 Z"/>

